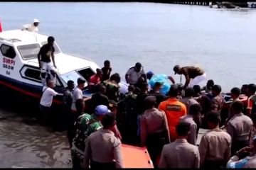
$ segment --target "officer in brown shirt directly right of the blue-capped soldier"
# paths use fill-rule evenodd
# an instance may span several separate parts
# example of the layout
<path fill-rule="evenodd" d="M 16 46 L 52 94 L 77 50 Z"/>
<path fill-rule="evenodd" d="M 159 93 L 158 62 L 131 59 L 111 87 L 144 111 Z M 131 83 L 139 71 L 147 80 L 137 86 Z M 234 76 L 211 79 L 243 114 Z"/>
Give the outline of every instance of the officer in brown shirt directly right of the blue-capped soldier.
<path fill-rule="evenodd" d="M 102 118 L 103 129 L 88 137 L 85 148 L 85 168 L 114 169 L 123 168 L 121 141 L 114 135 L 116 125 L 114 113 L 107 113 Z M 115 162 L 114 162 L 114 161 Z"/>

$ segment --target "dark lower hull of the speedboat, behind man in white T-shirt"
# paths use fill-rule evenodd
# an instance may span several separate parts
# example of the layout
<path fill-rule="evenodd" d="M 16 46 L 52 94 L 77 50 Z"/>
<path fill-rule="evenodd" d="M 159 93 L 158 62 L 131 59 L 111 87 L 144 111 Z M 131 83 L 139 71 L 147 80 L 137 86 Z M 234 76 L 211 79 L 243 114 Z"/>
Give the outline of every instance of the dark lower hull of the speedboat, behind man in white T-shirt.
<path fill-rule="evenodd" d="M 39 117 L 39 103 L 42 93 L 41 86 L 26 84 L 0 75 L 0 102 L 2 108 L 11 109 L 21 115 Z M 52 113 L 56 130 L 65 130 L 68 125 L 68 114 L 63 110 L 62 96 L 53 99 Z"/>

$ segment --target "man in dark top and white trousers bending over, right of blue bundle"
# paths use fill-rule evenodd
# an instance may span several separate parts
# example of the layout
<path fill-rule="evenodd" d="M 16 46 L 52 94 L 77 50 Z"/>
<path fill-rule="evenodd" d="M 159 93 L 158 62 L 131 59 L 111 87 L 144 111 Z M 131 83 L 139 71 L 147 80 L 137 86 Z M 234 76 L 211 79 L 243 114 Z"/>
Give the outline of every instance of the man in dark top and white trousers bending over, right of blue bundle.
<path fill-rule="evenodd" d="M 193 87 L 194 85 L 199 84 L 201 81 L 206 79 L 206 72 L 203 71 L 200 67 L 188 66 L 181 67 L 176 65 L 174 67 L 175 74 L 183 74 L 186 78 L 186 82 L 183 86 L 183 89 L 187 87 Z"/>

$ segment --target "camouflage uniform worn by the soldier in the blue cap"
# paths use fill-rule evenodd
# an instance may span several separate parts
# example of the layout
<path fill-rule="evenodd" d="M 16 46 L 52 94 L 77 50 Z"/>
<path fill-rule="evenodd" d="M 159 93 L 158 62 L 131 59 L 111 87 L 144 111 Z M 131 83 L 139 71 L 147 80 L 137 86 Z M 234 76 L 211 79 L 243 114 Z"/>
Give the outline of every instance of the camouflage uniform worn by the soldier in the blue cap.
<path fill-rule="evenodd" d="M 92 132 L 100 130 L 102 125 L 95 115 L 89 115 L 87 113 L 82 114 L 78 117 L 75 122 L 75 137 L 73 139 L 73 146 L 71 149 L 71 157 L 74 162 L 78 162 L 80 159 L 80 164 L 83 162 L 83 154 L 85 152 L 85 147 L 87 139 Z"/>

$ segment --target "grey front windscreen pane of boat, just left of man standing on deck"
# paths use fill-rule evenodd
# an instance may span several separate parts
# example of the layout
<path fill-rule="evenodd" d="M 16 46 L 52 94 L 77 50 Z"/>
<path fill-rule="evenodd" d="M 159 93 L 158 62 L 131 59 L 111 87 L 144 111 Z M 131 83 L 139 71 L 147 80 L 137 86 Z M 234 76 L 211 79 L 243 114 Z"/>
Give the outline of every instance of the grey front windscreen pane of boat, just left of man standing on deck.
<path fill-rule="evenodd" d="M 40 50 L 39 44 L 19 45 L 17 48 L 23 60 L 37 58 L 38 52 Z"/>

